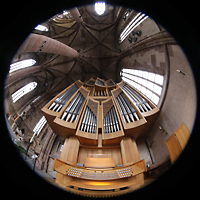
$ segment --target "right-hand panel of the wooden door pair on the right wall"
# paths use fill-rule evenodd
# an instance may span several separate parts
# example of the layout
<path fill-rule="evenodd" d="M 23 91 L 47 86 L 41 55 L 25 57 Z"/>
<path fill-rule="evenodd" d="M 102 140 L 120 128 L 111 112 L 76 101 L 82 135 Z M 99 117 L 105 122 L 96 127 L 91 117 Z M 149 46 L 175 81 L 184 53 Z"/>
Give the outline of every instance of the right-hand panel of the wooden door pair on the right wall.
<path fill-rule="evenodd" d="M 179 144 L 181 145 L 181 148 L 183 150 L 189 140 L 190 132 L 188 131 L 185 124 L 182 123 L 180 127 L 177 130 L 175 130 L 174 134 L 178 138 Z"/>

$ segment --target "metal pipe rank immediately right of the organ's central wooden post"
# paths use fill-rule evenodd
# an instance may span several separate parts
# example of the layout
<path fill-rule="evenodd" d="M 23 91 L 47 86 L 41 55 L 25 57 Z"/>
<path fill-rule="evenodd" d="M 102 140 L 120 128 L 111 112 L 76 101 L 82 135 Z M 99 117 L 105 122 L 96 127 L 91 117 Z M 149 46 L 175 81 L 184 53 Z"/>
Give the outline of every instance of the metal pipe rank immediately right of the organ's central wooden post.
<path fill-rule="evenodd" d="M 119 121 L 114 106 L 107 112 L 103 119 L 104 133 L 113 133 L 120 130 Z"/>

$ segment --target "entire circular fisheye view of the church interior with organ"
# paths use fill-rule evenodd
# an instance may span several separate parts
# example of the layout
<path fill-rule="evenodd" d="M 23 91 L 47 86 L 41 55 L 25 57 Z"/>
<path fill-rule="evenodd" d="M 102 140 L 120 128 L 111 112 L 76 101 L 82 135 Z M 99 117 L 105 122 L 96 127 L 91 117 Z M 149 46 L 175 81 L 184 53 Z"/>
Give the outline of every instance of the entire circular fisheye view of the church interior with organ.
<path fill-rule="evenodd" d="M 196 99 L 190 63 L 161 24 L 96 2 L 33 28 L 10 64 L 4 110 L 31 169 L 66 192 L 106 198 L 170 169 Z"/>

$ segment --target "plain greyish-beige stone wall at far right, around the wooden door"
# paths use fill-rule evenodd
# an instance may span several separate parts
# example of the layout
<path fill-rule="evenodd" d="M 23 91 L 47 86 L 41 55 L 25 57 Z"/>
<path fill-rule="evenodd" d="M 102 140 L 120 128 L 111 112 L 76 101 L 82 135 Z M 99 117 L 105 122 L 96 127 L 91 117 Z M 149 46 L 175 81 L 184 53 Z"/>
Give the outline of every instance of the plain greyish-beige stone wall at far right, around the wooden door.
<path fill-rule="evenodd" d="M 156 163 L 168 157 L 164 142 L 182 123 L 192 133 L 197 106 L 192 70 L 183 51 L 178 45 L 167 45 L 167 48 L 170 72 L 167 94 L 160 115 L 147 134 Z M 176 70 L 181 70 L 185 75 Z M 165 131 L 161 131 L 159 126 Z"/>

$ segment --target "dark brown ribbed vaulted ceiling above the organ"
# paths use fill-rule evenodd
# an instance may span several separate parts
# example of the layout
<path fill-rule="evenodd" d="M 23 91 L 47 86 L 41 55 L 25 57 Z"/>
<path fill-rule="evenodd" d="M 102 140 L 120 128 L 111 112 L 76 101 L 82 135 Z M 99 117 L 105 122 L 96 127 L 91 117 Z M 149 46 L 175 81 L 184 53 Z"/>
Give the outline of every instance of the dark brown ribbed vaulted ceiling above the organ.
<path fill-rule="evenodd" d="M 70 46 L 80 53 L 79 58 L 43 52 L 34 53 L 34 56 L 33 53 L 23 53 L 20 54 L 20 59 L 35 57 L 37 63 L 27 69 L 27 72 L 24 69 L 24 73 L 18 74 L 16 78 L 23 79 L 31 74 L 40 85 L 48 86 L 48 92 L 54 94 L 79 79 L 86 82 L 90 78 L 100 77 L 120 81 L 116 33 L 125 9 L 107 5 L 101 16 L 95 12 L 94 5 L 75 8 L 76 15 L 72 16 L 73 10 L 68 15 L 61 13 L 44 22 L 48 32 L 34 30 L 33 33 Z M 78 20 L 77 13 L 81 15 Z M 14 62 L 17 60 L 19 54 L 15 56 Z"/>

